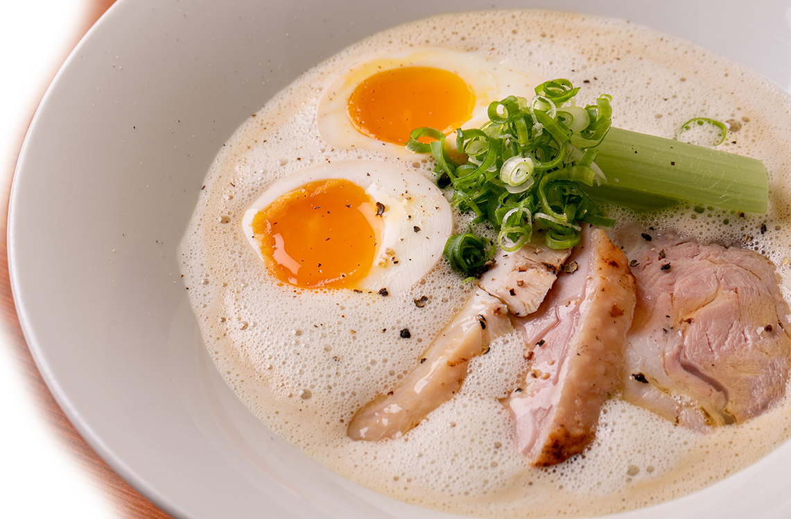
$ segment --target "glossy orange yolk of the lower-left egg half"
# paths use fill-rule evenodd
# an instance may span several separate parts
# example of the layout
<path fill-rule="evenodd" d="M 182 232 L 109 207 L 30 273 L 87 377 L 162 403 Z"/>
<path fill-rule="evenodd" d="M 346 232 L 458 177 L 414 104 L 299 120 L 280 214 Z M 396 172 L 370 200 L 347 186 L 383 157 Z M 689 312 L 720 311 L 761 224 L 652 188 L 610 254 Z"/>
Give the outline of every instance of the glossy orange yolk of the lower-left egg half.
<path fill-rule="evenodd" d="M 260 210 L 252 232 L 281 281 L 301 288 L 353 287 L 373 265 L 382 218 L 358 184 L 319 180 Z"/>

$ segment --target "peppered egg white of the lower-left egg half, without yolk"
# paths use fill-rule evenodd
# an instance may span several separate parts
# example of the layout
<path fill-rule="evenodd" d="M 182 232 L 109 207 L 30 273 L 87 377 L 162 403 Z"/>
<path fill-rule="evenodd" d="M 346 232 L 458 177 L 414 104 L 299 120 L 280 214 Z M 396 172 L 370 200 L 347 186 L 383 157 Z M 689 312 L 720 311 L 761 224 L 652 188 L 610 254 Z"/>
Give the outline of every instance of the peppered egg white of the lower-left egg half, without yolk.
<path fill-rule="evenodd" d="M 371 270 L 354 288 L 397 294 L 418 282 L 441 259 L 451 234 L 451 208 L 425 176 L 380 161 L 333 161 L 311 165 L 274 182 L 242 217 L 244 235 L 263 260 L 252 221 L 278 197 L 316 180 L 346 179 L 384 204 L 382 235 Z M 262 263 L 263 265 L 263 263 Z"/>

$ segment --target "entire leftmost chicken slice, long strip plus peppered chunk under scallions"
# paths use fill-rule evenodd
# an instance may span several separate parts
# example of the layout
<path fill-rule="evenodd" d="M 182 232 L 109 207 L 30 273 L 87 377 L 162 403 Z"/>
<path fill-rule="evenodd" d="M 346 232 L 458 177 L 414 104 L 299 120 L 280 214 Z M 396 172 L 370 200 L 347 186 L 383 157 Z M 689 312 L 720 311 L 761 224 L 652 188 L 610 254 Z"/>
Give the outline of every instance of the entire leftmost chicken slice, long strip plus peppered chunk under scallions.
<path fill-rule="evenodd" d="M 392 392 L 378 396 L 354 415 L 349 437 L 398 438 L 450 400 L 467 377 L 469 360 L 486 352 L 499 335 L 513 331 L 509 309 L 514 315 L 535 312 L 570 253 L 570 248 L 548 248 L 543 236 L 537 235 L 516 252 L 499 255 L 480 282 L 483 290 L 467 301 L 422 354 L 418 367 Z"/>

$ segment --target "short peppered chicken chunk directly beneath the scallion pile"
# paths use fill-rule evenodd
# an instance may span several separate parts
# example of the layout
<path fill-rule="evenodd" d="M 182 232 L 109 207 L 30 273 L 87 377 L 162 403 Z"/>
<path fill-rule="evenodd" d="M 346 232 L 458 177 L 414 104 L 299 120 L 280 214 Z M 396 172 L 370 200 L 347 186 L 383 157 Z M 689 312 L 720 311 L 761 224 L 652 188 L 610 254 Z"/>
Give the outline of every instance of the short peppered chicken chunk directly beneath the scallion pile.
<path fill-rule="evenodd" d="M 480 286 L 499 297 L 513 315 L 528 316 L 539 309 L 570 254 L 571 248 L 547 247 L 543 234 L 536 233 L 516 251 L 501 251 Z"/>

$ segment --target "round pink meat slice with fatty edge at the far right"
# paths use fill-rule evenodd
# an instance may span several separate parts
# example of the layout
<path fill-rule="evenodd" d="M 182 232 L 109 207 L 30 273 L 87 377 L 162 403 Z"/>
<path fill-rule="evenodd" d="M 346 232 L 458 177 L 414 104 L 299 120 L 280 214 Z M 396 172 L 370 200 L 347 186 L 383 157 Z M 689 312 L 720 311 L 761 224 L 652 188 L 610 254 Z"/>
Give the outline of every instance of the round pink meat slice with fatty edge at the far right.
<path fill-rule="evenodd" d="M 785 393 L 789 305 L 757 252 L 626 238 L 638 281 L 623 396 L 694 430 L 741 423 Z"/>

